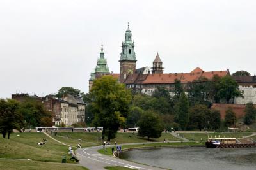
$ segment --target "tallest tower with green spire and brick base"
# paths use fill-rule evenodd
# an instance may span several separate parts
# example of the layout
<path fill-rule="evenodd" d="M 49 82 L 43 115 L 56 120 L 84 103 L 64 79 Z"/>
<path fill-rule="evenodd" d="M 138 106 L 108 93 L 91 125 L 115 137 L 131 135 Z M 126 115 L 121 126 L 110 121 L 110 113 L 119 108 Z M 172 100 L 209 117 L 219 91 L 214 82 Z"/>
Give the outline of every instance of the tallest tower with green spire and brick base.
<path fill-rule="evenodd" d="M 124 41 L 122 42 L 122 52 L 120 53 L 120 82 L 123 83 L 128 74 L 134 74 L 136 70 L 136 55 L 134 52 L 134 41 L 132 41 L 132 33 L 129 29 L 129 22 L 127 30 L 124 34 Z"/>

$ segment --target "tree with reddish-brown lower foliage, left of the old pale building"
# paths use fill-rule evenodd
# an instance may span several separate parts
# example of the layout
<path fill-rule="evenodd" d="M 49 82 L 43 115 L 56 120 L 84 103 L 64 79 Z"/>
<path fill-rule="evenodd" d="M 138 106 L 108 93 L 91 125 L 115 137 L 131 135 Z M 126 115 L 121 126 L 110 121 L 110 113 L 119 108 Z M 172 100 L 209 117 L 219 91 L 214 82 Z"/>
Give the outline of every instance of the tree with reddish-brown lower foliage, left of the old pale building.
<path fill-rule="evenodd" d="M 52 126 L 51 112 L 46 110 L 44 105 L 38 101 L 27 98 L 24 102 L 20 103 L 19 112 L 23 115 L 28 126 Z"/>

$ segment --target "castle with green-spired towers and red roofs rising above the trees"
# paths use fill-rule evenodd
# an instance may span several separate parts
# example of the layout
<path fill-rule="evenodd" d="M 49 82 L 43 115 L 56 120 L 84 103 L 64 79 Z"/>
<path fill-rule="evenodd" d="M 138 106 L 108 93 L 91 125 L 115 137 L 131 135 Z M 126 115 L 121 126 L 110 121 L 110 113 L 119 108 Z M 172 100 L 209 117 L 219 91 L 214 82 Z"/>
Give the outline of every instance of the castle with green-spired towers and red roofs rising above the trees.
<path fill-rule="evenodd" d="M 91 73 L 89 80 L 89 90 L 92 88 L 93 80 L 104 75 L 111 75 L 118 78 L 120 83 L 124 83 L 127 89 L 132 89 L 134 93 L 143 93 L 151 95 L 157 87 L 166 87 L 172 91 L 174 89 L 175 80 L 180 80 L 182 86 L 186 89 L 188 83 L 197 80 L 200 77 L 211 80 L 214 75 L 227 76 L 230 75 L 228 70 L 225 71 L 208 71 L 205 72 L 196 67 L 190 73 L 163 73 L 163 62 L 157 53 L 156 58 L 152 62 L 152 67 L 141 67 L 136 69 L 136 54 L 134 51 L 134 41 L 132 41 L 132 33 L 129 29 L 124 34 L 122 42 L 122 52 L 120 53 L 120 73 L 114 74 L 109 72 L 107 60 L 104 57 L 103 46 L 101 47 L 100 57 L 97 60 L 97 66 Z"/>

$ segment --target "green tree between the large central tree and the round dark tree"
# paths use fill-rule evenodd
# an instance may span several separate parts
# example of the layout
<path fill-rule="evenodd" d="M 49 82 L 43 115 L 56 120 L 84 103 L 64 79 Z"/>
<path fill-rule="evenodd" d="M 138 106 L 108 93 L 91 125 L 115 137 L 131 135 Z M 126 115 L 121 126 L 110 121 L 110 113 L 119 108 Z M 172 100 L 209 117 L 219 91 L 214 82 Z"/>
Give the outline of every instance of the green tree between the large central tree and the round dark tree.
<path fill-rule="evenodd" d="M 129 112 L 129 115 L 126 119 L 127 127 L 137 127 L 138 121 L 140 120 L 141 115 L 143 114 L 144 110 L 139 107 L 132 106 Z"/>

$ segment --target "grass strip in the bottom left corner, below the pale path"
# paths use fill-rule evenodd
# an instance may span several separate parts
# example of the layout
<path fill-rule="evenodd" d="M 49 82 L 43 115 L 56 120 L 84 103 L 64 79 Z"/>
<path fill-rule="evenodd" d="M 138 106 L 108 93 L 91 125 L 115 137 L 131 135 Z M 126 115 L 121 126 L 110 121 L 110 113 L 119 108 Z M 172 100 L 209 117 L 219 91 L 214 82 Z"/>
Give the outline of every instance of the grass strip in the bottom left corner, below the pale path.
<path fill-rule="evenodd" d="M 77 164 L 61 164 L 53 162 L 38 162 L 29 160 L 0 160 L 0 169 L 8 170 L 49 170 L 49 169 L 63 169 L 63 170 L 86 170 L 85 167 L 77 166 Z"/>

